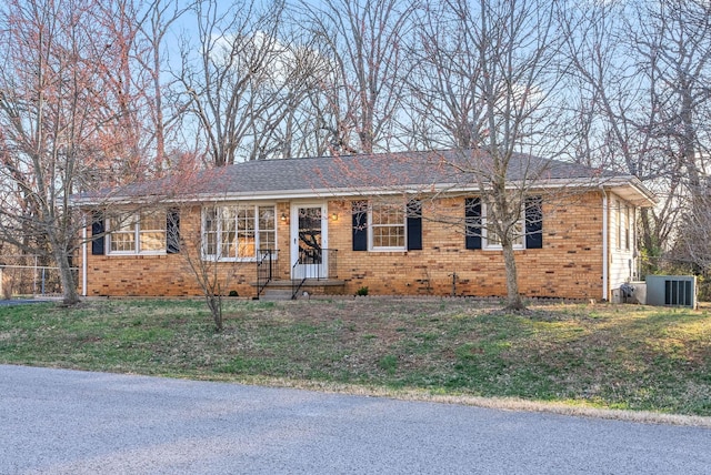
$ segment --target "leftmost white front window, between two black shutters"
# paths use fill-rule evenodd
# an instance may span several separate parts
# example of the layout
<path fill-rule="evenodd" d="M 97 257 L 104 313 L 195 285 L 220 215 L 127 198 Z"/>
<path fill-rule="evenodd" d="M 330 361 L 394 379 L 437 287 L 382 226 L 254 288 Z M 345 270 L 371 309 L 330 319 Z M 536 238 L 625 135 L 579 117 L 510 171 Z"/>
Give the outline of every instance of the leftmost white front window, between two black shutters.
<path fill-rule="evenodd" d="M 164 210 L 109 218 L 108 225 L 110 254 L 166 252 Z"/>

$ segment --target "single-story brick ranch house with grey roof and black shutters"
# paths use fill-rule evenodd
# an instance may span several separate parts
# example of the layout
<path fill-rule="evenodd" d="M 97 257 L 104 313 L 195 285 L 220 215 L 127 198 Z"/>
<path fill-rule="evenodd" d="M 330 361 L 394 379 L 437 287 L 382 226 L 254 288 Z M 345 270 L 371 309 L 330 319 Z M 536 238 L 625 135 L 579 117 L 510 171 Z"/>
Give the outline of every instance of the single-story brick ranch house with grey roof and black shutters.
<path fill-rule="evenodd" d="M 455 151 L 253 161 L 172 188 L 77 195 L 93 213 L 80 293 L 200 295 L 187 265 L 198 250 L 223 292 L 240 296 L 280 286 L 503 296 L 501 245 L 480 192 L 489 165 Z M 514 155 L 507 183 L 523 196 L 514 244 L 523 295 L 609 300 L 637 276 L 635 216 L 654 203 L 639 180 Z"/>

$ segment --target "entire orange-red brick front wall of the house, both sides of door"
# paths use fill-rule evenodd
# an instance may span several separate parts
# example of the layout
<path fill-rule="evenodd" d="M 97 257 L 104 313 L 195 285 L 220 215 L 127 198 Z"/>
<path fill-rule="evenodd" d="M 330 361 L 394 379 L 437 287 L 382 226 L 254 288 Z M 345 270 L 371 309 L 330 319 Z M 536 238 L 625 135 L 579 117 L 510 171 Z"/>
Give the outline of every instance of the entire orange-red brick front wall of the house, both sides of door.
<path fill-rule="evenodd" d="M 329 201 L 329 247 L 338 250 L 338 277 L 344 293 L 367 286 L 370 294 L 450 295 L 452 274 L 457 274 L 458 295 L 505 295 L 505 273 L 500 251 L 464 249 L 463 225 L 452 221 L 463 216 L 463 198 L 425 204 L 422 222 L 422 251 L 351 251 L 351 201 Z M 290 203 L 277 203 L 277 233 L 281 276 L 289 277 Z M 200 209 L 181 212 L 181 236 L 190 239 L 200 230 Z M 201 295 L 186 255 L 196 249 L 169 255 L 91 255 L 88 253 L 88 295 Z M 598 299 L 602 290 L 602 198 L 598 192 L 578 195 L 567 205 L 544 200 L 543 249 L 515 251 L 520 291 L 529 296 Z M 80 263 L 81 269 L 81 263 Z M 220 263 L 226 282 L 223 293 L 234 290 L 241 296 L 254 294 L 256 264 Z M 81 282 L 81 277 L 79 282 Z M 80 289 L 81 291 L 81 289 Z"/>

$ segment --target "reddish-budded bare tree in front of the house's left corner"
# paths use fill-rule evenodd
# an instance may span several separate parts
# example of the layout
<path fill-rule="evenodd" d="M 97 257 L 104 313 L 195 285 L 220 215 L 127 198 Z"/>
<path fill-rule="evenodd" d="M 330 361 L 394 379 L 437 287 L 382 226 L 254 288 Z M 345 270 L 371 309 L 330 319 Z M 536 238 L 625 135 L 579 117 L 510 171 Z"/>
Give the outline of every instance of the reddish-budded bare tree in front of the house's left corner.
<path fill-rule="evenodd" d="M 78 301 L 71 256 L 86 225 L 70 195 L 140 173 L 134 30 L 108 29 L 104 13 L 89 0 L 0 7 L 0 233 L 59 266 L 67 304 Z"/>

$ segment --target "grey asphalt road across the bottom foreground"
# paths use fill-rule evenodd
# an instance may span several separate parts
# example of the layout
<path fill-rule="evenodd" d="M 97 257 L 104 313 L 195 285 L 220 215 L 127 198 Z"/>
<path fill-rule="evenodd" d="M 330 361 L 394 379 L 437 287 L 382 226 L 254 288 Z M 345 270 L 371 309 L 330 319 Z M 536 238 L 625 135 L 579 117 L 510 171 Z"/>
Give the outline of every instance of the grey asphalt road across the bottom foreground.
<path fill-rule="evenodd" d="M 711 429 L 0 365 L 2 474 L 709 474 Z"/>

